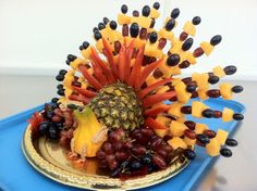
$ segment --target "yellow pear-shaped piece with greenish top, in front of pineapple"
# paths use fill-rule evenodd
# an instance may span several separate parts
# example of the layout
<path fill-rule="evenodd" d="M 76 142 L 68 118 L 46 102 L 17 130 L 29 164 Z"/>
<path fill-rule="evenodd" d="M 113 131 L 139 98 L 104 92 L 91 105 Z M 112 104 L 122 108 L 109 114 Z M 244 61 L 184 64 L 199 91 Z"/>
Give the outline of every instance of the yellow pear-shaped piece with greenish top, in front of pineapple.
<path fill-rule="evenodd" d="M 74 111 L 78 126 L 73 132 L 71 141 L 72 152 L 84 157 L 94 157 L 101 144 L 107 140 L 108 129 L 103 129 L 95 113 L 88 106 L 84 111 Z"/>

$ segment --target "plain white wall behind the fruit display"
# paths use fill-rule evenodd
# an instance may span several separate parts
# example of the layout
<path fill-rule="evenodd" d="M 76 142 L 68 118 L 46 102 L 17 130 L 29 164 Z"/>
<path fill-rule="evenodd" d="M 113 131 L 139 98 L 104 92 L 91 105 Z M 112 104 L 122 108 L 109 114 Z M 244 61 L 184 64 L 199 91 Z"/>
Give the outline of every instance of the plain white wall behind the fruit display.
<path fill-rule="evenodd" d="M 68 53 L 91 39 L 91 29 L 103 16 L 113 20 L 123 3 L 128 12 L 154 0 L 0 0 L 0 74 L 53 75 L 65 67 Z M 180 25 L 195 15 L 203 18 L 195 46 L 220 34 L 223 41 L 194 69 L 235 64 L 236 79 L 257 80 L 257 0 L 162 0 L 161 21 L 180 8 Z M 161 26 L 159 21 L 159 26 Z M 178 29 L 178 34 L 181 30 Z"/>

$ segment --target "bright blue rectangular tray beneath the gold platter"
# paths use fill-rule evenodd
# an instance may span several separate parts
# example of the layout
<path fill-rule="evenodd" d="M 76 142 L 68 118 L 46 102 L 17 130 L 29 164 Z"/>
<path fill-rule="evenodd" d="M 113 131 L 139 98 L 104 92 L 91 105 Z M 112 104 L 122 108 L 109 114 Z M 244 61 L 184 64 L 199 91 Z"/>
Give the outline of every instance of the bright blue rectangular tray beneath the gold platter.
<path fill-rule="evenodd" d="M 223 101 L 221 99 L 209 99 L 205 103 L 215 110 L 222 111 L 224 106 L 232 109 L 235 113 L 244 113 L 244 105 L 234 101 Z M 42 105 L 25 111 L 17 115 L 0 120 L 0 191 L 78 191 L 76 189 L 58 183 L 35 170 L 26 161 L 22 152 L 22 139 L 26 119 L 35 111 L 40 111 Z M 187 119 L 193 119 L 188 116 Z M 221 119 L 195 119 L 196 122 L 207 124 L 211 129 L 222 128 L 230 132 L 234 131 L 238 122 L 223 123 Z M 174 191 L 193 190 L 194 186 L 200 180 L 204 173 L 211 166 L 217 157 L 206 155 L 203 148 L 196 148 L 196 158 L 175 177 L 152 186 L 140 189 L 162 191 L 164 189 Z"/>

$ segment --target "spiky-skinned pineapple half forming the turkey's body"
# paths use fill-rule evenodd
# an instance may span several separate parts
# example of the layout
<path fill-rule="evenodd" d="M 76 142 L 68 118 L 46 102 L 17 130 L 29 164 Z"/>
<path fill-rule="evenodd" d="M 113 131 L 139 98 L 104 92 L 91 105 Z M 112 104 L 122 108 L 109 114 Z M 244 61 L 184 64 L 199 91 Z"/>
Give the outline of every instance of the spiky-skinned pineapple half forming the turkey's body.
<path fill-rule="evenodd" d="M 108 128 L 132 130 L 144 122 L 140 100 L 133 88 L 122 82 L 103 87 L 88 105 Z"/>

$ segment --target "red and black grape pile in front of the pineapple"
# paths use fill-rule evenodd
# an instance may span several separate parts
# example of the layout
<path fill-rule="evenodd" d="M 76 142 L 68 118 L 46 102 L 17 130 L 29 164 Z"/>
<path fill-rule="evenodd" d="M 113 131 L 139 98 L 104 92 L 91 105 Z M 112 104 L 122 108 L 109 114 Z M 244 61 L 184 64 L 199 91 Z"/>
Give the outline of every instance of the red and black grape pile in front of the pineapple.
<path fill-rule="evenodd" d="M 176 154 L 151 128 L 131 132 L 119 128 L 109 132 L 108 141 L 97 152 L 97 158 L 99 167 L 111 170 L 111 177 L 130 178 L 166 169 Z M 188 155 L 192 156 L 192 153 Z"/>

